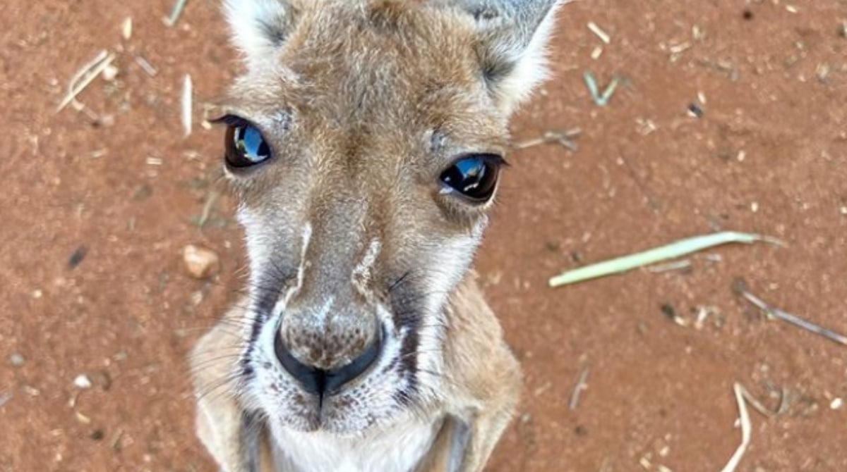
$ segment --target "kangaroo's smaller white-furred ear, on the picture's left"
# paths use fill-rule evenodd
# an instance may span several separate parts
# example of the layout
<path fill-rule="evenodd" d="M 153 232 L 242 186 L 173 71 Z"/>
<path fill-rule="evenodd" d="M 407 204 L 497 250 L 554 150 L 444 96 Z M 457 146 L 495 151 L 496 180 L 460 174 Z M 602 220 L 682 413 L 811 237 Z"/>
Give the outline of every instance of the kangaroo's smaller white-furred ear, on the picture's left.
<path fill-rule="evenodd" d="M 232 42 L 251 69 L 274 60 L 297 17 L 291 0 L 224 0 L 224 13 Z"/>

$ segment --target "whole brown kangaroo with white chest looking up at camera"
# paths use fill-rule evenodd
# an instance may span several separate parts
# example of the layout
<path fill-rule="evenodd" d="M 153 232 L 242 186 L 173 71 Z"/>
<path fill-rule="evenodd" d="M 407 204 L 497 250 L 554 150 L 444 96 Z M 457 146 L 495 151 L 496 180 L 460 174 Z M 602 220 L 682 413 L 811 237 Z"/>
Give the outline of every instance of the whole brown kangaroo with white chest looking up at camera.
<path fill-rule="evenodd" d="M 225 472 L 479 471 L 522 377 L 470 268 L 564 0 L 227 0 L 246 295 L 191 355 Z"/>

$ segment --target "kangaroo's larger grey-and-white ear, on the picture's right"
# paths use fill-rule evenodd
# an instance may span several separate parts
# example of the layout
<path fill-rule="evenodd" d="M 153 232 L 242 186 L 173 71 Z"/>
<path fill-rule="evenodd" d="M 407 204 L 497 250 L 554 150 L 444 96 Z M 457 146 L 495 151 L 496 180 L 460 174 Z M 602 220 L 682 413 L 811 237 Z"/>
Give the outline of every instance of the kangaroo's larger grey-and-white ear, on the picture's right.
<path fill-rule="evenodd" d="M 498 105 L 511 113 L 547 75 L 556 9 L 571 0 L 439 0 L 473 17 L 477 54 Z"/>

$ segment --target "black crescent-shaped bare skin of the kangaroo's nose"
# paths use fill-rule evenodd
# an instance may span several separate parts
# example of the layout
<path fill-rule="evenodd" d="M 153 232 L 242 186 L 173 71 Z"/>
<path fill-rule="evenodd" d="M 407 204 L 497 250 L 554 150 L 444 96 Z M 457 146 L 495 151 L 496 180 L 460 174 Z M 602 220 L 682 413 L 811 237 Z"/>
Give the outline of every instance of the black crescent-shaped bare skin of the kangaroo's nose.
<path fill-rule="evenodd" d="M 277 333 L 274 339 L 274 352 L 277 359 L 280 359 L 280 364 L 282 364 L 283 368 L 296 381 L 300 382 L 304 390 L 318 396 L 333 395 L 339 392 L 341 387 L 346 383 L 349 383 L 357 376 L 361 376 L 365 370 L 368 370 L 368 367 L 374 364 L 374 361 L 382 351 L 383 335 L 382 330 L 378 328 L 374 340 L 361 354 L 358 354 L 348 364 L 340 365 L 329 370 L 319 369 L 314 365 L 302 363 L 300 359 L 297 359 L 285 347 L 285 342 L 282 340 L 280 333 Z"/>

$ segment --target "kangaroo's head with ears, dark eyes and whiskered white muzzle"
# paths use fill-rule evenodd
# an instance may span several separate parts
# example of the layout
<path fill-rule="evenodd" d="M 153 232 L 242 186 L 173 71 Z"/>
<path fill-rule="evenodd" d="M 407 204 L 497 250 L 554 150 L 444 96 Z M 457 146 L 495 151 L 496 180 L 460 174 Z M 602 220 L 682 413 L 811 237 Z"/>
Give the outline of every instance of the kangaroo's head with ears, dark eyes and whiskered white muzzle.
<path fill-rule="evenodd" d="M 352 434 L 439 400 L 556 0 L 229 0 L 225 168 L 250 261 L 243 403 Z"/>

